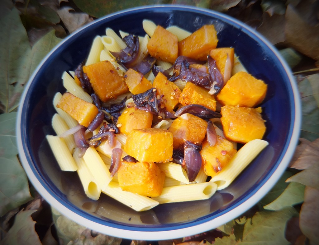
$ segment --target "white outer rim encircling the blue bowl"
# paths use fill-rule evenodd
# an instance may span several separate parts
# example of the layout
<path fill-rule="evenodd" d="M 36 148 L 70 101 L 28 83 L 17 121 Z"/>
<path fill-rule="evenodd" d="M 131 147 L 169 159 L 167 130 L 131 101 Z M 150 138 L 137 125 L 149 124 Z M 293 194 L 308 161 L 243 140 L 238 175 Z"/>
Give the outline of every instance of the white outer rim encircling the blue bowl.
<path fill-rule="evenodd" d="M 17 116 L 17 127 L 16 127 L 16 132 L 17 132 L 17 139 L 18 139 L 18 150 L 19 150 L 19 157 L 21 160 L 21 164 L 26 171 L 26 174 L 33 184 L 33 186 L 37 189 L 37 191 L 43 196 L 44 199 L 48 201 L 48 203 L 55 207 L 56 210 L 58 210 L 61 214 L 65 215 L 66 217 L 70 218 L 71 220 L 77 222 L 78 224 L 81 224 L 85 227 L 88 227 L 96 232 L 100 232 L 102 234 L 107 234 L 115 237 L 120 237 L 123 239 L 139 239 L 139 240 L 164 240 L 164 239 L 173 239 L 173 238 L 179 238 L 179 237 L 185 237 L 189 235 L 195 235 L 202 233 L 204 231 L 216 228 L 220 225 L 225 224 L 227 221 L 230 221 L 242 213 L 244 213 L 246 210 L 251 208 L 253 205 L 255 205 L 267 192 L 271 190 L 271 188 L 276 184 L 280 176 L 283 174 L 283 172 L 286 170 L 292 156 L 295 150 L 295 147 L 298 143 L 299 139 L 299 134 L 300 134 L 300 125 L 301 125 L 301 103 L 300 103 L 300 97 L 299 97 L 299 92 L 298 88 L 295 82 L 295 79 L 291 73 L 290 68 L 286 64 L 286 61 L 281 57 L 279 52 L 277 51 L 276 48 L 273 47 L 273 45 L 265 39 L 261 34 L 257 33 L 255 30 L 253 30 L 251 27 L 244 23 L 238 23 L 238 20 L 227 16 L 225 14 L 213 11 L 213 10 L 208 10 L 208 9 L 203 9 L 203 8 L 197 8 L 193 6 L 184 6 L 184 5 L 169 5 L 169 4 L 163 4 L 163 5 L 148 5 L 144 7 L 135 7 L 127 10 L 122 10 L 122 11 L 117 11 L 115 13 L 109 14 L 105 17 L 102 17 L 100 19 L 97 19 L 96 21 L 93 21 L 80 29 L 78 29 L 76 32 L 72 33 L 69 37 L 65 38 L 63 41 L 61 41 L 50 53 L 46 55 L 46 57 L 42 60 L 42 62 L 39 64 L 39 66 L 36 68 L 36 70 L 33 72 L 33 75 L 30 77 L 29 82 L 27 83 L 27 86 L 21 96 L 21 104 L 22 105 L 23 101 L 25 101 L 26 94 L 28 88 L 31 86 L 31 81 L 34 79 L 35 75 L 39 71 L 40 67 L 43 65 L 43 63 L 48 59 L 48 57 L 55 52 L 57 48 L 59 48 L 63 43 L 74 36 L 76 33 L 81 32 L 83 29 L 87 28 L 88 26 L 95 24 L 97 22 L 103 21 L 106 18 L 118 15 L 118 14 L 123 14 L 126 12 L 130 11 L 135 11 L 135 10 L 144 10 L 144 9 L 154 9 L 154 8 L 173 8 L 173 9 L 184 9 L 184 10 L 198 10 L 199 12 L 207 13 L 207 14 L 214 14 L 216 16 L 222 17 L 230 22 L 234 22 L 238 24 L 239 26 L 243 27 L 244 29 L 248 30 L 250 33 L 254 34 L 258 39 L 262 40 L 263 43 L 268 46 L 271 51 L 276 54 L 278 60 L 282 64 L 284 70 L 286 71 L 287 76 L 289 77 L 289 80 L 291 81 L 291 88 L 293 91 L 293 98 L 294 98 L 294 104 L 295 104 L 295 115 L 292 120 L 294 121 L 293 125 L 293 130 L 291 132 L 291 140 L 289 145 L 287 146 L 287 150 L 285 155 L 283 156 L 280 164 L 278 165 L 277 169 L 272 173 L 270 178 L 267 179 L 267 181 L 262 185 L 260 189 L 256 191 L 255 194 L 253 194 L 250 198 L 242 202 L 240 205 L 234 207 L 232 210 L 229 210 L 227 213 L 224 213 L 220 215 L 219 217 L 216 217 L 213 220 L 209 220 L 206 222 L 202 222 L 200 224 L 194 225 L 194 226 L 188 226 L 186 228 L 180 228 L 180 229 L 172 229 L 172 230 L 163 230 L 163 231 L 138 231 L 139 228 L 136 228 L 137 230 L 133 230 L 134 227 L 130 227 L 131 230 L 126 230 L 126 229 L 120 229 L 120 228 L 114 228 L 114 227 L 109 227 L 105 226 L 103 224 L 99 224 L 96 222 L 93 222 L 89 219 L 86 219 L 79 215 L 78 213 L 75 213 L 68 209 L 66 206 L 63 206 L 58 200 L 56 200 L 40 183 L 38 180 L 38 177 L 33 173 L 30 165 L 28 164 L 26 154 L 23 149 L 23 145 L 21 142 L 21 125 L 19 122 L 21 121 L 22 117 L 22 106 L 19 106 L 18 110 L 18 116 Z M 299 112 L 297 114 L 297 112 Z M 200 221 L 199 221 L 200 222 Z"/>

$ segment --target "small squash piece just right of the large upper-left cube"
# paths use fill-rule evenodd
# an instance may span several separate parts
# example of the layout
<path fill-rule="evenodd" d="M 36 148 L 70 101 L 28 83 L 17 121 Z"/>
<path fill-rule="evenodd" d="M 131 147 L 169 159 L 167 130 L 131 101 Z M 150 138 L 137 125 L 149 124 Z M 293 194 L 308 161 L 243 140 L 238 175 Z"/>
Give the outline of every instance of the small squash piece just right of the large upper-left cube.
<path fill-rule="evenodd" d="M 142 73 L 131 68 L 124 74 L 124 81 L 132 94 L 141 94 L 152 88 L 152 83 Z"/>

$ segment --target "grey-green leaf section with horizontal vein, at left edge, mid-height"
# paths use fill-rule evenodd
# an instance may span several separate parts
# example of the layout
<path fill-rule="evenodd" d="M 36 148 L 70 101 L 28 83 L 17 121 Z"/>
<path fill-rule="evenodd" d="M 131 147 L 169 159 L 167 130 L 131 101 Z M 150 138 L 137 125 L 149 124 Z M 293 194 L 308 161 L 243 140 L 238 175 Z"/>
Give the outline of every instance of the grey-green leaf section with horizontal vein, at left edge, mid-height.
<path fill-rule="evenodd" d="M 16 118 L 16 112 L 0 115 L 0 157 L 9 158 L 18 155 Z"/>

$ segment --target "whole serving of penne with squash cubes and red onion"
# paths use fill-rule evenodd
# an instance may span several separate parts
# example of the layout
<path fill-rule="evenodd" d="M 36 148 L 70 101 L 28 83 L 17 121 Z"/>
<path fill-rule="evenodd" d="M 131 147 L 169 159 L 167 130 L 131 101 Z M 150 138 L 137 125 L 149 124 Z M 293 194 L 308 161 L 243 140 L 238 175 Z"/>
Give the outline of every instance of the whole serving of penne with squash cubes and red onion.
<path fill-rule="evenodd" d="M 209 199 L 268 145 L 267 84 L 218 46 L 212 24 L 141 25 L 145 36 L 107 28 L 63 73 L 49 145 L 91 199 L 105 194 L 136 211 Z"/>

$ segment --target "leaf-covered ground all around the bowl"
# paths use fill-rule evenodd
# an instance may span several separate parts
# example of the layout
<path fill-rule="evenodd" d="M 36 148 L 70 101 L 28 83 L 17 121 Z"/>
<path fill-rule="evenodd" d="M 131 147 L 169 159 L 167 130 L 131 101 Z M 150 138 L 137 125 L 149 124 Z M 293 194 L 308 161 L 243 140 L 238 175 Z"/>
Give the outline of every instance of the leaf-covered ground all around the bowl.
<path fill-rule="evenodd" d="M 191 237 L 128 241 L 70 221 L 28 183 L 16 147 L 16 110 L 29 76 L 61 39 L 108 13 L 161 3 L 224 12 L 280 50 L 300 91 L 300 145 L 278 183 L 241 217 Z M 0 1 L 0 244 L 319 244 L 318 13 L 318 0 Z"/>

